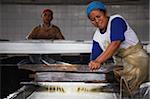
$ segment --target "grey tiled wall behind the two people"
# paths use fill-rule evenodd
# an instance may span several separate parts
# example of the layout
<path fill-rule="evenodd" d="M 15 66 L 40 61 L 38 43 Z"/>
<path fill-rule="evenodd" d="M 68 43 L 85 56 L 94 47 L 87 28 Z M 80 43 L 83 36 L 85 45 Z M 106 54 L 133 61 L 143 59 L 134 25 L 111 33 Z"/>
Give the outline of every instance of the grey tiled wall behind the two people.
<path fill-rule="evenodd" d="M 24 40 L 32 27 L 41 23 L 43 8 L 54 11 L 55 25 L 67 40 L 91 40 L 95 28 L 85 14 L 84 5 L 1 5 L 0 39 Z M 142 41 L 149 40 L 149 6 L 108 5 L 108 13 L 122 15 Z"/>

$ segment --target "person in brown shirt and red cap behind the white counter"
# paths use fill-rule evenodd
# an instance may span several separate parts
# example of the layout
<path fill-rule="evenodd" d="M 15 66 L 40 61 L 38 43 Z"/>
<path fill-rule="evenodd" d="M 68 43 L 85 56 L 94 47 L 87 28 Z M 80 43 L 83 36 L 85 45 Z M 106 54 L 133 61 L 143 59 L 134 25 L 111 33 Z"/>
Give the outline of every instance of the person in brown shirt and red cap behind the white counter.
<path fill-rule="evenodd" d="M 27 35 L 27 39 L 64 39 L 60 29 L 53 25 L 53 11 L 50 9 L 44 9 L 41 14 L 43 23 L 34 27 L 32 31 Z"/>

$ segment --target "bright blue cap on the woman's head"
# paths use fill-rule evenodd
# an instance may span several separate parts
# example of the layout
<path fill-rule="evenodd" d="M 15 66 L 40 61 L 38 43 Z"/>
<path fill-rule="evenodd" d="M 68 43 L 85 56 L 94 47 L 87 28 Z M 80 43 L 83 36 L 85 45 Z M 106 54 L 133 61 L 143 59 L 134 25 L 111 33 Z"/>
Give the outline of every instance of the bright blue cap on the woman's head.
<path fill-rule="evenodd" d="M 100 9 L 100 10 L 106 10 L 105 5 L 100 1 L 93 1 L 88 4 L 86 8 L 86 14 L 87 16 L 90 14 L 90 12 L 94 9 Z"/>

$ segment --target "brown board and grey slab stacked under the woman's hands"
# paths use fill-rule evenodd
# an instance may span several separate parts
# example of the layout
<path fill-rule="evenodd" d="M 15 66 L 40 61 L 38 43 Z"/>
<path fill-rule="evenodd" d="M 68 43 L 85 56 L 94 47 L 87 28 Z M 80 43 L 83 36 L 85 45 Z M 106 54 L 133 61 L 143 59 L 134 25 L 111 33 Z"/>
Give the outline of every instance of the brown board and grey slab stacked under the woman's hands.
<path fill-rule="evenodd" d="M 37 82 L 106 82 L 113 81 L 113 69 L 119 66 L 105 65 L 96 71 L 91 71 L 88 65 L 76 64 L 32 64 L 21 65 L 20 69 L 33 71 Z"/>

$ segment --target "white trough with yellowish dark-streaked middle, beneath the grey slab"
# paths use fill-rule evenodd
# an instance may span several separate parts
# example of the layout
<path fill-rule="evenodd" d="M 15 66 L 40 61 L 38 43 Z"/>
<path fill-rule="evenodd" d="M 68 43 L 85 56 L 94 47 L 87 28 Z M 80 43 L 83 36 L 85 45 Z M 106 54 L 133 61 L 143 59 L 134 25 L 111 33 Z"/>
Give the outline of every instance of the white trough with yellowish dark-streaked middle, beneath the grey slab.
<path fill-rule="evenodd" d="M 119 99 L 116 84 L 84 82 L 24 82 L 6 99 Z M 16 94 L 17 93 L 17 94 Z"/>

